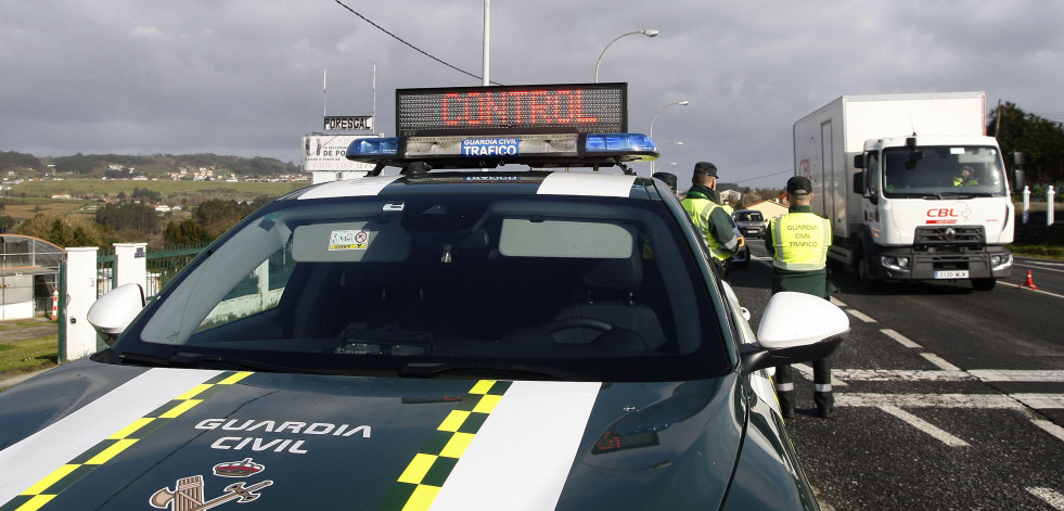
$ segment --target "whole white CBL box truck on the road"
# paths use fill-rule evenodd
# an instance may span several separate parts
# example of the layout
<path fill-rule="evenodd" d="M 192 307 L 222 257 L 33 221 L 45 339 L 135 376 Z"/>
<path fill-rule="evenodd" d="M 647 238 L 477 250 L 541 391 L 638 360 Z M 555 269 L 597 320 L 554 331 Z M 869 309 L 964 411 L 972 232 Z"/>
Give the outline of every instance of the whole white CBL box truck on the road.
<path fill-rule="evenodd" d="M 1014 207 L 984 92 L 844 95 L 794 123 L 795 174 L 829 218 L 829 257 L 883 281 L 1009 277 Z"/>

